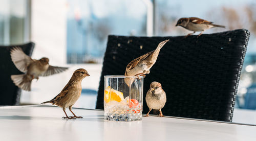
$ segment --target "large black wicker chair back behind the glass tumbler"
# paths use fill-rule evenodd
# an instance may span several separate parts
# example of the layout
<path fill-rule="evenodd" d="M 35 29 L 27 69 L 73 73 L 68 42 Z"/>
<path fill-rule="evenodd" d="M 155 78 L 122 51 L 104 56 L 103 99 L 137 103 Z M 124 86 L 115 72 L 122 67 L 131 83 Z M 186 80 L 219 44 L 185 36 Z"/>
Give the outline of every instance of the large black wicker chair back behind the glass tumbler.
<path fill-rule="evenodd" d="M 123 75 L 130 61 L 170 39 L 144 78 L 143 113 L 146 92 L 157 81 L 166 92 L 164 115 L 231 122 L 249 36 L 244 29 L 199 38 L 109 36 L 96 108 L 103 109 L 104 75 Z"/>

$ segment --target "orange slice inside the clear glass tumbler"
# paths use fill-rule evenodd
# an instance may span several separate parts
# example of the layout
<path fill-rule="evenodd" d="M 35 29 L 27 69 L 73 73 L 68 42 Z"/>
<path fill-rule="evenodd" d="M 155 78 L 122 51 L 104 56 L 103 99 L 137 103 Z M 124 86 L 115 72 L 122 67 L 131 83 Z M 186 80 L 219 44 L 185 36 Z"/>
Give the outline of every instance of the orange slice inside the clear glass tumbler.
<path fill-rule="evenodd" d="M 104 101 L 109 103 L 110 101 L 117 101 L 120 102 L 123 100 L 123 93 L 117 91 L 115 89 L 110 89 L 110 86 L 106 87 L 104 90 Z"/>

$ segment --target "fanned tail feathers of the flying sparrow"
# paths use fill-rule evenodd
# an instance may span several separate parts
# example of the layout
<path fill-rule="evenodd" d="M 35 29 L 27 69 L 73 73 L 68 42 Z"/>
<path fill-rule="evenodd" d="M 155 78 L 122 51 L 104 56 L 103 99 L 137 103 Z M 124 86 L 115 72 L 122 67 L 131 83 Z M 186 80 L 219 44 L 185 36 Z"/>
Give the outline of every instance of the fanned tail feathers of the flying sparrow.
<path fill-rule="evenodd" d="M 13 83 L 23 90 L 31 90 L 31 79 L 26 74 L 22 75 L 11 75 Z"/>

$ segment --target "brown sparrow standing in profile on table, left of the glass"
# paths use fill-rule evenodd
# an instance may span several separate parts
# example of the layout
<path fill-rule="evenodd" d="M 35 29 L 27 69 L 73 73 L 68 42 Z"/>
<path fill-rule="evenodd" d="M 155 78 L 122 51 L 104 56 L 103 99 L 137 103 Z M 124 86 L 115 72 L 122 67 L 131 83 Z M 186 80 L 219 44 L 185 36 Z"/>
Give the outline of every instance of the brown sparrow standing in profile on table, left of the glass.
<path fill-rule="evenodd" d="M 75 115 L 75 113 L 72 111 L 72 106 L 81 96 L 81 92 L 82 92 L 81 82 L 87 76 L 90 76 L 90 75 L 88 74 L 86 69 L 83 69 L 83 68 L 76 69 L 71 79 L 69 80 L 68 84 L 60 91 L 60 93 L 56 97 L 54 97 L 52 100 L 43 102 L 41 104 L 52 103 L 53 105 L 57 105 L 61 107 L 64 113 L 66 114 L 66 117 L 65 116 L 62 117 L 63 119 L 82 118 L 82 116 Z M 67 115 L 66 113 L 67 107 L 69 107 L 69 110 L 73 113 L 74 116 Z"/>

